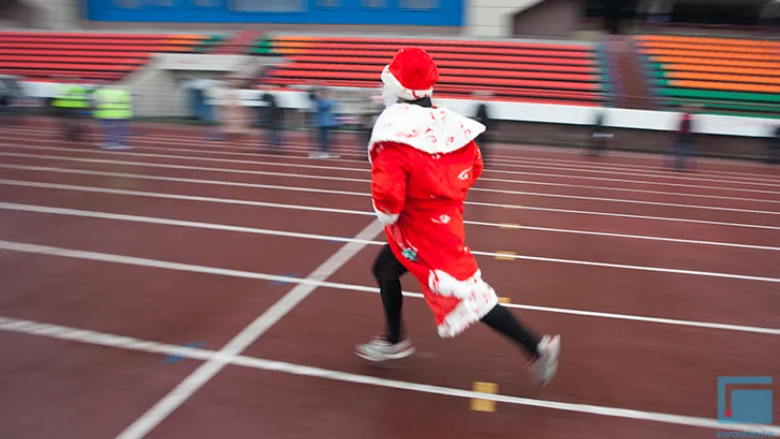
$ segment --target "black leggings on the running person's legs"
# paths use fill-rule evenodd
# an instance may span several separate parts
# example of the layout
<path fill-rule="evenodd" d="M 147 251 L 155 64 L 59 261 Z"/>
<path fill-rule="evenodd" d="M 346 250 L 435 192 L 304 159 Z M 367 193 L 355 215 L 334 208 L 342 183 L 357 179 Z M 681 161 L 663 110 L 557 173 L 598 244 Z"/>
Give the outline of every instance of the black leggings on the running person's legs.
<path fill-rule="evenodd" d="M 401 305 L 403 304 L 401 276 L 408 270 L 392 253 L 390 245 L 386 244 L 374 262 L 373 272 L 384 305 L 387 340 L 390 343 L 398 343 L 401 341 Z M 536 358 L 538 355 L 539 337 L 520 325 L 518 319 L 504 306 L 496 305 L 482 317 L 482 322 L 499 334 L 517 342 L 526 349 L 531 358 Z"/>

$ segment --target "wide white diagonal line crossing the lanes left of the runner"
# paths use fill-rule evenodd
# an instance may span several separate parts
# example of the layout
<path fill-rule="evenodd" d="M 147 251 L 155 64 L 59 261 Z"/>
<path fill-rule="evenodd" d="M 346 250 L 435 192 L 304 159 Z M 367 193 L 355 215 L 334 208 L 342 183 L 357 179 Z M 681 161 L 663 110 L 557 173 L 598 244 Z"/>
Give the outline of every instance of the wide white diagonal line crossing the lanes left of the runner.
<path fill-rule="evenodd" d="M 383 225 L 377 220 L 372 220 L 369 226 L 355 236 L 355 239 L 371 240 L 382 230 L 384 230 Z M 326 262 L 315 268 L 314 272 L 306 276 L 306 279 L 318 282 L 325 281 L 344 266 L 345 263 L 355 257 L 365 246 L 366 244 L 363 243 L 347 242 L 347 244 L 329 257 Z M 279 301 L 268 308 L 261 316 L 258 316 L 249 326 L 241 330 L 228 344 L 219 349 L 219 354 L 228 358 L 212 357 L 208 359 L 185 380 L 181 381 L 174 390 L 170 391 L 162 400 L 116 436 L 117 439 L 140 439 L 152 431 L 184 402 L 187 402 L 187 399 L 195 394 L 196 391 L 214 378 L 221 369 L 224 369 L 228 365 L 230 357 L 239 355 L 244 349 L 248 348 L 258 337 L 265 334 L 283 316 L 293 311 L 295 306 L 299 305 L 309 294 L 312 294 L 315 288 L 316 285 L 313 284 L 295 285 L 289 293 L 284 294 Z"/>

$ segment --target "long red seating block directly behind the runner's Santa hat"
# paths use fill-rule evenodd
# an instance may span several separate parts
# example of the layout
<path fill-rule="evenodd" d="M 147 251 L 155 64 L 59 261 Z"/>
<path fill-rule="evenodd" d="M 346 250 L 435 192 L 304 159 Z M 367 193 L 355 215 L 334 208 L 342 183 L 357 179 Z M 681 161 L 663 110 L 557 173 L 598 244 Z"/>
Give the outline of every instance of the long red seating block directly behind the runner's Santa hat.
<path fill-rule="evenodd" d="M 592 45 L 285 35 L 262 37 L 251 52 L 290 60 L 272 72 L 270 83 L 375 88 L 382 67 L 404 45 L 425 48 L 437 60 L 436 91 L 442 97 L 492 91 L 505 101 L 600 105 L 607 100 L 608 75 Z"/>

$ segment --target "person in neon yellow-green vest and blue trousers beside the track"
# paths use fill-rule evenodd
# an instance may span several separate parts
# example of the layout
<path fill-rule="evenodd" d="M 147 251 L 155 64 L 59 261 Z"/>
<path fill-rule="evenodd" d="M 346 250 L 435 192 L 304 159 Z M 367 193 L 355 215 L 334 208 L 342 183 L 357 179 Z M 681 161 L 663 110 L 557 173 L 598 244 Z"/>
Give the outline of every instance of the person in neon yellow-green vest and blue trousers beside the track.
<path fill-rule="evenodd" d="M 102 87 L 94 93 L 95 119 L 103 134 L 102 148 L 127 149 L 127 123 L 133 117 L 130 93 L 118 87 Z"/>

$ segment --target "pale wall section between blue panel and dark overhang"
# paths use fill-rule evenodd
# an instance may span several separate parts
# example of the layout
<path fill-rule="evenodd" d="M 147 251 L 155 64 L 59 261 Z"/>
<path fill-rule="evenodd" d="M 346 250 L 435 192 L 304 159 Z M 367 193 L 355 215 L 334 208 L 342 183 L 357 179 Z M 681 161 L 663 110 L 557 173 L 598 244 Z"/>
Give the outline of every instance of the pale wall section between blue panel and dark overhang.
<path fill-rule="evenodd" d="M 512 17 L 544 0 L 470 0 L 464 33 L 470 37 L 511 37 Z"/>

